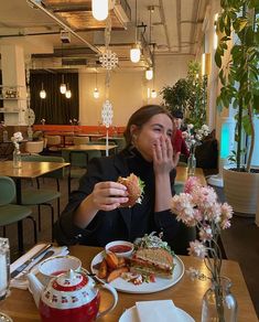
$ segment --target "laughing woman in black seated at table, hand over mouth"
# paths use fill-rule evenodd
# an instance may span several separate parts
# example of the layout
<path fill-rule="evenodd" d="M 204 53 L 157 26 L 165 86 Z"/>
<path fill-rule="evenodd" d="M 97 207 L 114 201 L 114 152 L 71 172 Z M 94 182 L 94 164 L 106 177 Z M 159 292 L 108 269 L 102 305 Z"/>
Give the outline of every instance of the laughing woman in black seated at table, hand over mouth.
<path fill-rule="evenodd" d="M 126 128 L 126 149 L 90 161 L 78 190 L 72 193 L 55 224 L 57 243 L 104 247 L 111 240 L 133 242 L 144 234 L 163 232 L 163 239 L 172 249 L 185 254 L 195 236 L 170 212 L 174 194 L 171 180 L 174 181 L 179 161 L 171 144 L 172 132 L 173 121 L 164 108 L 148 105 L 138 109 Z M 128 192 L 117 180 L 130 173 L 144 182 L 142 203 L 120 207 L 128 201 Z"/>

